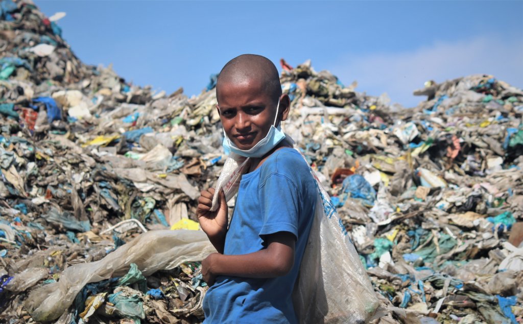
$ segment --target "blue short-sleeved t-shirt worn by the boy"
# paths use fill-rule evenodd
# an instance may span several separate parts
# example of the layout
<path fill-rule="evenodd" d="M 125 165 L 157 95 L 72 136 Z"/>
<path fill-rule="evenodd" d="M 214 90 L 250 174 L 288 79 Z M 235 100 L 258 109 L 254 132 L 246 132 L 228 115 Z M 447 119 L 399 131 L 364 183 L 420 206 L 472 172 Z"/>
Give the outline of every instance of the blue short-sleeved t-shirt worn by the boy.
<path fill-rule="evenodd" d="M 300 153 L 282 148 L 244 174 L 225 238 L 224 254 L 267 248 L 265 236 L 280 231 L 295 238 L 294 266 L 285 276 L 218 276 L 203 299 L 204 323 L 297 323 L 292 290 L 314 218 L 317 189 Z"/>

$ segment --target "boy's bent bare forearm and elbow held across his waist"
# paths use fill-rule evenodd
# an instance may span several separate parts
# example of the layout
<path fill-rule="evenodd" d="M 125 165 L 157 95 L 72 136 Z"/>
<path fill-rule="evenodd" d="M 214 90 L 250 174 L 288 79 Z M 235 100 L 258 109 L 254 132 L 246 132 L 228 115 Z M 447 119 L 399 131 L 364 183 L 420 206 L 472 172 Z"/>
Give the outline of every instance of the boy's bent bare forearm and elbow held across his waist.
<path fill-rule="evenodd" d="M 266 242 L 266 249 L 253 253 L 210 254 L 202 261 L 203 279 L 211 286 L 218 275 L 272 278 L 288 274 L 294 265 L 294 234 L 277 232 L 268 235 Z"/>

